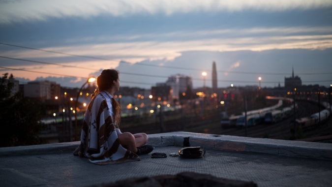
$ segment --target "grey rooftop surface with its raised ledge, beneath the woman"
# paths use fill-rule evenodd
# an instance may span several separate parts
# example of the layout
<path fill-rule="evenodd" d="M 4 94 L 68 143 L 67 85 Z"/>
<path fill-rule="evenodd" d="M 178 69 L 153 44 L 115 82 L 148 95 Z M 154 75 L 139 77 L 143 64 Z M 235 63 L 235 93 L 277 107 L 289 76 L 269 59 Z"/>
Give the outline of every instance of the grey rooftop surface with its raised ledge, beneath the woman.
<path fill-rule="evenodd" d="M 203 158 L 169 155 L 183 147 L 206 149 Z M 73 156 L 79 142 L 0 148 L 0 187 L 91 186 L 118 180 L 196 172 L 252 181 L 259 187 L 331 187 L 332 144 L 247 138 L 227 135 L 170 132 L 150 134 L 155 149 L 140 161 L 95 165 Z"/>

